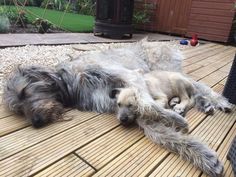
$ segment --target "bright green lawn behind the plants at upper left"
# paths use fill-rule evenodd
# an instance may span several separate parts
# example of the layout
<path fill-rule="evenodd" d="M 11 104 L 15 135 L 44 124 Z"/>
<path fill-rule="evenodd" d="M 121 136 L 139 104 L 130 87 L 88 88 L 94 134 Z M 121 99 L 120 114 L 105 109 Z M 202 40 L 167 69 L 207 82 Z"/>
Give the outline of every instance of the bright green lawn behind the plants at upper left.
<path fill-rule="evenodd" d="M 16 7 L 11 7 L 16 8 Z M 80 15 L 75 13 L 65 13 L 62 11 L 46 9 L 45 15 L 43 8 L 38 7 L 20 7 L 26 11 L 26 16 L 30 21 L 35 18 L 43 18 L 50 21 L 57 27 L 71 32 L 91 32 L 94 26 L 94 17 L 88 15 Z M 63 19 L 62 19 L 63 18 Z"/>

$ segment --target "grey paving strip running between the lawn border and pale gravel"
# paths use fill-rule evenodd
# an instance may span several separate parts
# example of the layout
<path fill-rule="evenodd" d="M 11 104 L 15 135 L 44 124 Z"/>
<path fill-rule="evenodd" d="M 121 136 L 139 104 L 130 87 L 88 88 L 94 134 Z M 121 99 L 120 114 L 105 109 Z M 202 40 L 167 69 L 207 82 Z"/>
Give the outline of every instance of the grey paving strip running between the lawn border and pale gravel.
<path fill-rule="evenodd" d="M 180 37 L 158 33 L 134 34 L 131 39 L 111 39 L 94 36 L 93 33 L 22 33 L 0 34 L 0 47 L 13 47 L 25 45 L 60 45 L 60 44 L 86 44 L 86 43 L 111 43 L 135 42 L 148 37 L 150 41 L 169 41 L 181 39 Z"/>

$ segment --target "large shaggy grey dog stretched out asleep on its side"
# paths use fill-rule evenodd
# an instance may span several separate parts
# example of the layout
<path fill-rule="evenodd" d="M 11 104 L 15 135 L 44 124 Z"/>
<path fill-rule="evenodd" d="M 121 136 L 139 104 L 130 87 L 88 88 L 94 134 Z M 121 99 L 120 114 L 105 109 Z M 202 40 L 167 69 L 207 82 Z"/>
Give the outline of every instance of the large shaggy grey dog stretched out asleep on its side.
<path fill-rule="evenodd" d="M 190 139 L 168 125 L 187 128 L 186 120 L 174 111 L 156 104 L 140 74 L 142 69 L 181 72 L 182 56 L 164 47 L 161 50 L 145 42 L 129 47 L 92 52 L 56 69 L 25 67 L 17 69 L 8 79 L 4 102 L 16 113 L 24 114 L 35 127 L 61 119 L 64 107 L 97 112 L 117 112 L 116 100 L 110 95 L 115 88 L 135 87 L 143 102 L 144 114 L 137 123 L 155 143 L 180 154 L 211 176 L 220 175 L 223 166 L 216 154 L 196 140 Z M 201 83 L 193 82 L 203 111 L 209 107 L 230 109 L 225 98 Z"/>

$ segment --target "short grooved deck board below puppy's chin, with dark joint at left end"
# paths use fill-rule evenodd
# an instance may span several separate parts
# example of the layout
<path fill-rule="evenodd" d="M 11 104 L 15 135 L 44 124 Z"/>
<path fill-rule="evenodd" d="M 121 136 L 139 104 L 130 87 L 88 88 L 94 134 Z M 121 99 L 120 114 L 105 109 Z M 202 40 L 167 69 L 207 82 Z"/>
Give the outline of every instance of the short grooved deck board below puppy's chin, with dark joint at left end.
<path fill-rule="evenodd" d="M 76 153 L 93 167 L 100 169 L 143 137 L 143 132 L 137 127 L 131 129 L 118 127 Z"/>

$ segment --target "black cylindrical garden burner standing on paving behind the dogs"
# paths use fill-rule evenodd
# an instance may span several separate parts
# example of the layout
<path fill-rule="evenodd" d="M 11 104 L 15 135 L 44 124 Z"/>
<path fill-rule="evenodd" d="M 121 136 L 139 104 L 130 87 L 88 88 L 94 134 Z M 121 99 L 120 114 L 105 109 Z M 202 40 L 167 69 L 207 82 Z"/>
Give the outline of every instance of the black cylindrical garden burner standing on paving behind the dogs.
<path fill-rule="evenodd" d="M 94 35 L 131 38 L 133 8 L 134 0 L 96 0 Z"/>

